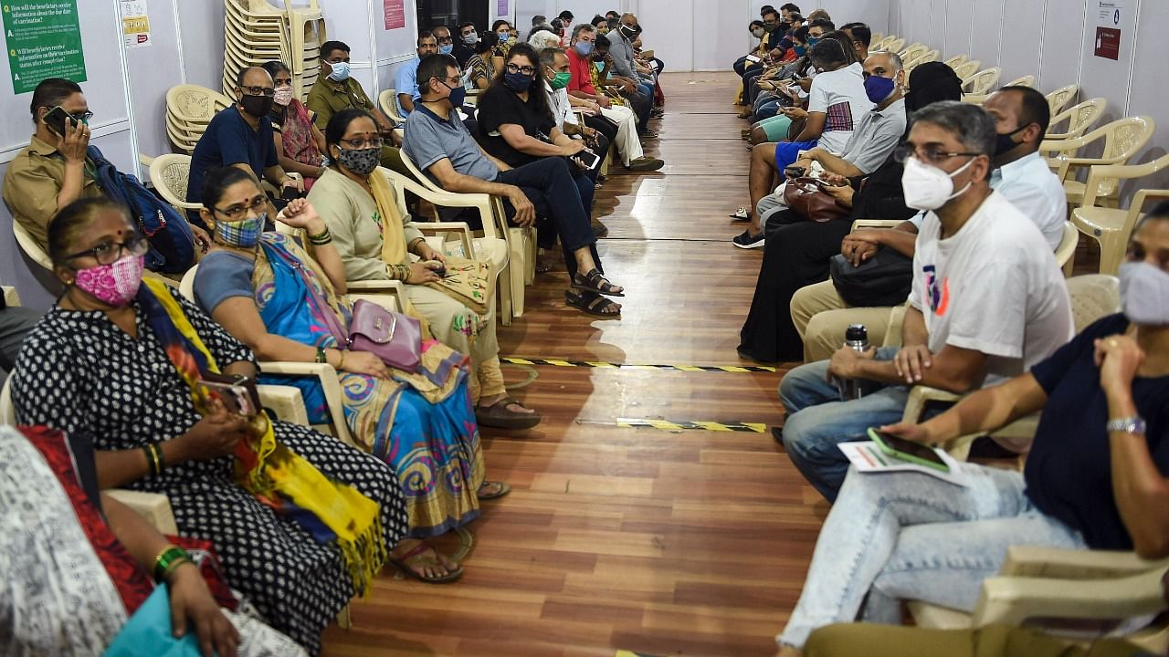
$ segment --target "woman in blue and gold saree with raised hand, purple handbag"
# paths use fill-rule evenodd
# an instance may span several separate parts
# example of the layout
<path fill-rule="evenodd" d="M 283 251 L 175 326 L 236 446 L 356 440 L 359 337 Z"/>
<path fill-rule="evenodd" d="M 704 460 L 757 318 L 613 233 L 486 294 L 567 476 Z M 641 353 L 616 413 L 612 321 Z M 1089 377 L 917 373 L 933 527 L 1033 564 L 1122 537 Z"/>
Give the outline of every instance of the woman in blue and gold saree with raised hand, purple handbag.
<path fill-rule="evenodd" d="M 484 480 L 466 357 L 427 340 L 411 374 L 373 353 L 346 350 L 337 333 L 344 338 L 347 332 L 352 306 L 324 221 L 304 200 L 284 210 L 284 222 L 305 229 L 313 242 L 313 260 L 290 237 L 261 233 L 268 219 L 264 198 L 247 172 L 228 167 L 208 173 L 200 212 L 215 237 L 195 275 L 196 300 L 262 361 L 337 368 L 343 421 L 359 445 L 394 469 L 406 495 L 411 540 L 393 551 L 392 562 L 427 582 L 458 579 L 462 568 L 424 539 L 478 518 L 479 499 L 507 491 L 505 484 Z M 261 381 L 298 387 L 310 421 L 330 421 L 316 378 Z"/>

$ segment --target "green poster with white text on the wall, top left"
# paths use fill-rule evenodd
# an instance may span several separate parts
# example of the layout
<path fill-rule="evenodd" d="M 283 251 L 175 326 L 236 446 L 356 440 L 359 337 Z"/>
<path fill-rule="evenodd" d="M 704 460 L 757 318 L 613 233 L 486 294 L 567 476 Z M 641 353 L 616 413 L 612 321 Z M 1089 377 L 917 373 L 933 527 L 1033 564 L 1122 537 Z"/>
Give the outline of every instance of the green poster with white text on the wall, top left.
<path fill-rule="evenodd" d="M 4 34 L 14 94 L 46 77 L 85 82 L 77 0 L 4 0 Z"/>

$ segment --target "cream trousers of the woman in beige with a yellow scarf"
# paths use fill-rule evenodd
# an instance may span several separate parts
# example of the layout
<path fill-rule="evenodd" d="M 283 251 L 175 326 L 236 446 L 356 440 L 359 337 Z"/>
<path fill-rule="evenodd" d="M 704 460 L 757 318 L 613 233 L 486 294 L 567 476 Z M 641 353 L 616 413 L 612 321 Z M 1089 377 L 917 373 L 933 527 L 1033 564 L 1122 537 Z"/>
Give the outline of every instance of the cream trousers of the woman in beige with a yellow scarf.
<path fill-rule="evenodd" d="M 486 325 L 476 336 L 475 326 L 479 316 L 465 305 L 424 285 L 406 285 L 406 295 L 414 304 L 414 310 L 427 318 L 436 340 L 470 357 L 475 373 L 469 381 L 471 401 L 503 394 L 505 388 L 503 372 L 499 369 L 494 310 L 487 313 Z"/>

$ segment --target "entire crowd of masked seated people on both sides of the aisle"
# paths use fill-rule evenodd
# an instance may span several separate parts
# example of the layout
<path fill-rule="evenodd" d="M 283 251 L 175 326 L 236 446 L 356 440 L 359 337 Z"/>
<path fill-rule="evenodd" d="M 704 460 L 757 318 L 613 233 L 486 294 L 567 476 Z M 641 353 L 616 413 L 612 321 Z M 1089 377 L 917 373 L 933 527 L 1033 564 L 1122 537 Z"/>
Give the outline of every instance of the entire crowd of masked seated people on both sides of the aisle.
<path fill-rule="evenodd" d="M 887 625 L 909 600 L 973 610 L 1012 545 L 1169 555 L 1169 202 L 1133 231 L 1122 312 L 1077 334 L 1042 94 L 1009 85 L 962 103 L 948 65 L 907 70 L 870 51 L 864 23 L 837 28 L 793 4 L 760 19 L 758 48 L 733 64 L 752 120 L 733 243 L 763 249 L 739 353 L 804 361 L 779 383 L 787 416 L 773 434 L 831 504 L 781 655 L 1081 653 L 1037 652 L 1049 639 L 1025 630 Z M 487 477 L 479 427 L 541 416 L 504 386 L 490 263 L 428 242 L 402 187 L 500 199 L 510 227 L 549 253 L 560 243 L 568 306 L 620 317 L 590 160 L 611 147 L 629 171 L 663 166 L 643 141 L 657 136 L 664 64 L 641 34 L 616 12 L 535 16 L 523 41 L 506 21 L 434 28 L 386 111 L 350 76 L 340 41 L 321 46 L 306 103 L 285 63 L 241 70 L 236 103 L 192 157 L 199 209 L 150 236 L 143 205 L 125 202 L 132 178 L 89 146 L 82 88 L 43 81 L 4 200 L 63 292 L 43 317 L 0 305 L 0 367 L 29 427 L 0 428 L 0 496 L 21 510 L 5 519 L 27 528 L 0 534 L 0 560 L 13 563 L 6 603 L 46 613 L 33 623 L 7 609 L 0 652 L 98 653 L 123 628 L 173 620 L 203 655 L 317 653 L 386 563 L 421 582 L 459 579 L 434 539 L 510 491 Z M 837 272 L 867 284 L 842 286 Z M 394 357 L 354 343 L 386 311 L 348 292 L 376 282 L 401 291 L 392 321 L 416 327 Z M 857 324 L 883 346 L 842 347 L 860 341 Z M 283 367 L 262 367 L 272 362 Z M 336 372 L 339 400 L 313 366 Z M 309 426 L 258 408 L 256 385 L 297 388 Z M 905 422 L 915 386 L 964 396 Z M 995 437 L 1035 414 L 1033 438 L 984 441 L 1026 455 L 1022 471 L 967 463 L 961 486 L 862 472 L 841 448 L 873 430 L 922 445 Z M 330 424 L 353 444 L 313 428 Z M 165 495 L 192 539 L 175 545 L 105 489 Z M 75 573 L 50 565 L 56 551 L 71 551 Z M 147 617 L 159 596 L 170 603 Z M 1121 639 L 1092 650 L 1135 653 Z"/>

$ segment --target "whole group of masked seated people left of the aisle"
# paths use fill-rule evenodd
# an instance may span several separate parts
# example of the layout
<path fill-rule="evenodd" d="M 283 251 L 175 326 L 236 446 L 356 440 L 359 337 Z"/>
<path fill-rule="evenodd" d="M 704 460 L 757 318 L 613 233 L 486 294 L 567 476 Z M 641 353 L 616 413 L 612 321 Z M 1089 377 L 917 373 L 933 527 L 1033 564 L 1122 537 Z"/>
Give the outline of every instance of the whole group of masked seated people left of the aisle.
<path fill-rule="evenodd" d="M 13 373 L 18 423 L 35 427 L 0 431 L 0 490 L 18 505 L 33 490 L 49 495 L 27 526 L 75 509 L 64 525 L 96 553 L 78 558 L 74 581 L 43 559 L 63 535 L 29 534 L 28 551 L 9 533 L 5 559 L 28 559 L 5 604 L 44 604 L 41 627 L 64 638 L 37 643 L 16 618 L 0 652 L 98 653 L 173 613 L 175 635 L 205 655 L 316 653 L 385 563 L 422 582 L 461 578 L 430 540 L 511 490 L 487 479 L 479 427 L 524 430 L 541 417 L 504 386 L 490 262 L 427 242 L 419 199 L 401 186 L 499 196 L 512 226 L 533 228 L 545 249 L 560 242 L 566 303 L 618 317 L 610 297 L 622 288 L 603 274 L 593 220 L 604 177 L 590 165 L 611 145 L 629 171 L 663 166 L 642 146 L 656 137 L 662 63 L 641 54 L 632 14 L 572 21 L 541 20 L 527 42 L 506 21 L 482 39 L 473 23 L 423 32 L 397 70 L 392 111 L 351 77 L 340 41 L 321 44 L 304 103 L 284 62 L 238 71 L 235 104 L 192 155 L 186 200 L 199 209 L 185 216 L 127 195 L 130 186 L 154 199 L 89 144 L 78 84 L 37 85 L 35 132 L 8 167 L 4 200 L 63 293 L 43 317 L 0 305 L 0 368 Z M 167 229 L 143 233 L 155 210 Z M 354 343 L 387 314 L 347 296 L 369 282 L 400 285 L 395 336 L 403 321 L 416 326 L 395 338 L 396 352 Z M 336 372 L 340 400 L 310 374 L 316 364 Z M 265 385 L 298 389 L 307 423 L 341 423 L 353 445 L 261 409 Z M 29 490 L 28 476 L 44 482 Z M 165 495 L 192 539 L 164 538 L 97 492 L 112 487 Z M 182 548 L 212 551 L 221 570 L 191 568 Z M 37 593 L 102 569 L 115 587 L 90 587 L 88 599 Z M 160 608 L 147 603 L 158 597 L 150 575 L 170 586 L 170 604 L 166 587 L 154 589 Z"/>

